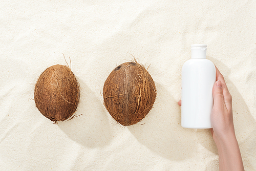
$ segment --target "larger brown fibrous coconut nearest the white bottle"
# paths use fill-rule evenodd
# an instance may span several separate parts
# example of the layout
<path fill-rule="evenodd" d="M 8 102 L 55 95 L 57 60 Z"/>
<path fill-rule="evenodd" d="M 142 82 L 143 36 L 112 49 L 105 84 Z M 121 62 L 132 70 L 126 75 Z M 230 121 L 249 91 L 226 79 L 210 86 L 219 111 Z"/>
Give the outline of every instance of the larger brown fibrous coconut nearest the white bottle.
<path fill-rule="evenodd" d="M 103 87 L 106 110 L 124 126 L 141 121 L 152 109 L 156 95 L 154 80 L 137 61 L 116 67 Z"/>

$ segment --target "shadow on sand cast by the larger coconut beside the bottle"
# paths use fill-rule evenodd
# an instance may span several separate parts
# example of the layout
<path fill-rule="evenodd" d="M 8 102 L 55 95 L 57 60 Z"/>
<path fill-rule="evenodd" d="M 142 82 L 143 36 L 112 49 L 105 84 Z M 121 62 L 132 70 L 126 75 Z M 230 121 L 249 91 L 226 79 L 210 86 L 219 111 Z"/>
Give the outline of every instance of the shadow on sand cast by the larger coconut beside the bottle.
<path fill-rule="evenodd" d="M 136 139 L 153 152 L 170 160 L 185 160 L 196 153 L 192 130 L 181 127 L 181 109 L 172 95 L 156 83 L 153 109 L 139 123 L 127 126 Z"/>

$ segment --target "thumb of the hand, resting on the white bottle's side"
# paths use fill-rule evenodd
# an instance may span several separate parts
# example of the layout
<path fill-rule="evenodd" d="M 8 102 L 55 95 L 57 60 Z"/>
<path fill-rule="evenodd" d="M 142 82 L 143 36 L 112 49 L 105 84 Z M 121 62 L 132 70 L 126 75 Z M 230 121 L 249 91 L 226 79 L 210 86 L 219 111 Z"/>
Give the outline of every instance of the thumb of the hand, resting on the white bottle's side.
<path fill-rule="evenodd" d="M 222 108 L 225 102 L 223 97 L 222 84 L 220 80 L 215 82 L 214 88 L 212 88 L 212 96 L 214 97 L 214 106 Z"/>

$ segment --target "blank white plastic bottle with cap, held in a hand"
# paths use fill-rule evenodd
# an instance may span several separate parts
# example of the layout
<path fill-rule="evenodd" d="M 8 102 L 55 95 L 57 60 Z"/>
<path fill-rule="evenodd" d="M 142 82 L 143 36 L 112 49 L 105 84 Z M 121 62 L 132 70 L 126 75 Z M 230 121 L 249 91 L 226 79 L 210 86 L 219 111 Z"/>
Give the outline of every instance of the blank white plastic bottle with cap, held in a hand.
<path fill-rule="evenodd" d="M 211 128 L 216 69 L 214 63 L 206 59 L 206 47 L 191 45 L 191 59 L 182 67 L 181 126 L 190 129 Z"/>

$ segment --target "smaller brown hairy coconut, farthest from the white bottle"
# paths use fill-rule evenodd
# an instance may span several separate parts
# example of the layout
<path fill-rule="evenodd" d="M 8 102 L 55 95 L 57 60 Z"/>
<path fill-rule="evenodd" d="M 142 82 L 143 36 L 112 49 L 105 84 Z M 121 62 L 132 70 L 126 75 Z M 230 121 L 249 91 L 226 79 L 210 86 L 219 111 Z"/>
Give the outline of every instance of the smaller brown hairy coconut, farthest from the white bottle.
<path fill-rule="evenodd" d="M 64 121 L 76 112 L 79 97 L 79 84 L 66 66 L 47 68 L 35 84 L 36 107 L 54 123 Z"/>

